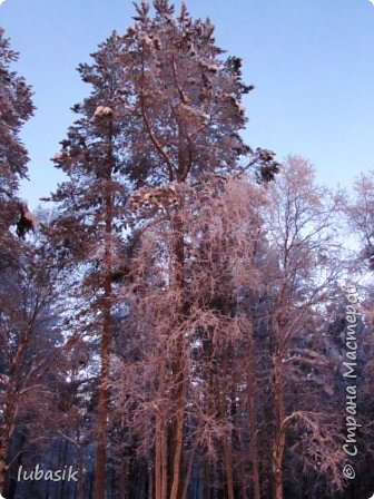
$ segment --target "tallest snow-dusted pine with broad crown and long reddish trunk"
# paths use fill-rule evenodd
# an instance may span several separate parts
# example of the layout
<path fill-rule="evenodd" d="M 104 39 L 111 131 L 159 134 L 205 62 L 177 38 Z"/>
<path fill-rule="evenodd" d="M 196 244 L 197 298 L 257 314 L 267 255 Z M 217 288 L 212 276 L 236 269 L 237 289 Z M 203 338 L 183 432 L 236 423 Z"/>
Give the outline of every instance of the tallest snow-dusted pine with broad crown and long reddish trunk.
<path fill-rule="evenodd" d="M 264 180 L 277 165 L 270 151 L 253 154 L 239 136 L 247 118 L 242 98 L 252 90 L 242 80 L 242 61 L 224 57 L 214 39 L 209 19 L 193 20 L 186 4 L 179 16 L 168 0 L 136 4 L 135 25 L 122 37 L 121 75 L 128 92 L 129 154 L 127 173 L 135 186 L 160 186 L 199 182 L 207 174 L 225 175 L 258 166 Z M 140 194 L 140 193 L 139 193 Z M 138 196 L 139 202 L 141 197 Z M 163 205 L 163 202 L 160 202 Z M 171 499 L 181 495 L 183 442 L 186 400 L 184 394 L 184 327 L 186 297 L 184 203 L 168 209 L 174 233 L 175 283 L 179 310 L 171 327 L 170 380 L 175 411 L 171 418 Z"/>

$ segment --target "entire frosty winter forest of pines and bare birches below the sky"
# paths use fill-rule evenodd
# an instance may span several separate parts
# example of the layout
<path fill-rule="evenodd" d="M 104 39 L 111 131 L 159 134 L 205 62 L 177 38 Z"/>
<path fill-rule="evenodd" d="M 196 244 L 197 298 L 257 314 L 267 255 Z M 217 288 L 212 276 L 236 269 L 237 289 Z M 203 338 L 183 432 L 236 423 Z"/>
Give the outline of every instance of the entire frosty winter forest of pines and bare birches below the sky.
<path fill-rule="evenodd" d="M 32 211 L 0 28 L 0 497 L 372 497 L 374 172 L 247 145 L 254 86 L 185 3 L 124 32 Z"/>

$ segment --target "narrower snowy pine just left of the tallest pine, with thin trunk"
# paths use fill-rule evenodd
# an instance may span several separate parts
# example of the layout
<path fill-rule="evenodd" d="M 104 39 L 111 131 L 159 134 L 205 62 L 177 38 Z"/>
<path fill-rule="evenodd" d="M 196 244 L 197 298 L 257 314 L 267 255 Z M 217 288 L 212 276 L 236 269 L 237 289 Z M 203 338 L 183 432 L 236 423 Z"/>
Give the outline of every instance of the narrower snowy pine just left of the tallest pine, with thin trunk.
<path fill-rule="evenodd" d="M 73 107 L 80 117 L 52 158 L 68 180 L 51 197 L 57 209 L 49 227 L 50 241 L 61 264 L 76 277 L 77 299 L 85 300 L 82 331 L 96 337 L 100 331 L 96 499 L 105 493 L 112 290 L 124 273 L 127 117 L 122 115 L 120 46 L 114 32 L 92 55 L 92 65 L 79 66 L 82 80 L 92 86 L 92 91 Z"/>

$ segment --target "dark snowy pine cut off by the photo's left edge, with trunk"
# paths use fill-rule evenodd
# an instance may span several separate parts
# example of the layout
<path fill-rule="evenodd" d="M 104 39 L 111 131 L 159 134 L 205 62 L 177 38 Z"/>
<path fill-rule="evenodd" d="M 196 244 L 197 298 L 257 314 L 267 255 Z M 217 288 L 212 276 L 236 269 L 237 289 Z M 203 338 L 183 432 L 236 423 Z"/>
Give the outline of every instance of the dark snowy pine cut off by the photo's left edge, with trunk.
<path fill-rule="evenodd" d="M 24 247 L 14 234 L 14 228 L 20 236 L 27 229 L 33 228 L 35 218 L 28 212 L 24 203 L 18 197 L 19 180 L 27 178 L 28 155 L 22 145 L 19 133 L 21 126 L 33 111 L 31 101 L 31 89 L 22 77 L 11 70 L 11 65 L 18 60 L 18 53 L 10 48 L 9 40 L 4 37 L 4 30 L 0 28 L 0 273 L 1 273 L 1 299 L 0 299 L 0 334 L 2 346 L 8 353 L 11 352 L 11 340 L 9 335 L 26 334 L 26 330 L 18 330 L 18 313 L 27 313 L 22 303 L 8 301 L 9 285 L 17 285 L 17 277 L 22 272 L 22 256 Z M 12 276 L 13 275 L 13 276 Z M 13 282 L 12 282 L 13 280 Z M 11 305 L 9 309 L 8 305 Z M 19 305 L 19 311 L 16 307 Z M 22 350 L 22 341 L 17 342 Z M 17 348 L 16 348 L 17 349 Z M 24 350 L 24 349 L 23 349 Z M 13 352 L 14 353 L 14 352 Z M 7 362 L 8 370 L 6 368 Z M 18 369 L 14 359 L 3 360 L 2 374 L 10 378 L 2 379 L 7 387 L 3 411 L 1 414 L 1 440 L 0 440 L 0 493 L 3 488 L 7 454 L 12 433 L 14 408 L 11 401 L 14 398 L 14 385 L 11 375 Z M 17 374 L 18 375 L 18 374 Z"/>

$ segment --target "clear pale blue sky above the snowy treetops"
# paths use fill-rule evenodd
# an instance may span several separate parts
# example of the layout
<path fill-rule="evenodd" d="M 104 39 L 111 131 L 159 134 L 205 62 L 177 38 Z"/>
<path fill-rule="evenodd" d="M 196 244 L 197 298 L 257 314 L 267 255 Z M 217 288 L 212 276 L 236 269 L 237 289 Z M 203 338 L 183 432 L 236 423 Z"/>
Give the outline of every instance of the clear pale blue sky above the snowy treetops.
<path fill-rule="evenodd" d="M 176 6 L 179 6 L 179 1 Z M 321 182 L 350 186 L 374 168 L 374 6 L 368 0 L 190 0 L 194 17 L 209 16 L 217 42 L 244 59 L 252 147 L 282 159 L 301 154 Z M 134 14 L 130 0 L 6 0 L 0 26 L 20 52 L 16 69 L 35 91 L 37 111 L 22 138 L 30 183 L 22 196 L 35 207 L 55 189 L 49 158 L 59 150 L 89 92 L 76 67 Z"/>

